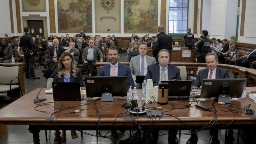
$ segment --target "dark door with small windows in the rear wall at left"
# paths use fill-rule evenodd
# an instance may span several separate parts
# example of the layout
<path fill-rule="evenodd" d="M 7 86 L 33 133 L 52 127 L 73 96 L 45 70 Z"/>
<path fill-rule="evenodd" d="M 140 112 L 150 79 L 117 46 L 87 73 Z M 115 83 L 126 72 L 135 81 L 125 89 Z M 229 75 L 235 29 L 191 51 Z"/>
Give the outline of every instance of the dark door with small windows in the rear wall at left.
<path fill-rule="evenodd" d="M 40 37 L 44 36 L 44 22 L 43 20 L 28 20 L 28 27 L 30 28 L 30 34 L 36 38 L 36 35 Z M 47 36 L 45 36 L 47 37 Z"/>

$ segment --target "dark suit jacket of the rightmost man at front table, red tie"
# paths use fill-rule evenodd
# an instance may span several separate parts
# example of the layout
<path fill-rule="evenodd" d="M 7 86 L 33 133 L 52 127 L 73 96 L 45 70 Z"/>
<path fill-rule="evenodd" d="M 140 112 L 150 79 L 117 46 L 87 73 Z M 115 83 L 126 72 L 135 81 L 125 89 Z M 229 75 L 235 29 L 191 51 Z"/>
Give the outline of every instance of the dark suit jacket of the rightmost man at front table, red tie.
<path fill-rule="evenodd" d="M 193 86 L 196 86 L 196 87 L 200 87 L 202 86 L 203 84 L 203 80 L 204 79 L 207 79 L 208 77 L 208 72 L 209 72 L 209 69 L 206 68 L 204 70 L 200 70 L 198 72 L 198 75 L 196 76 L 196 81 L 194 82 L 194 84 L 192 84 Z M 218 68 L 216 69 L 216 76 L 215 78 L 230 78 L 229 75 L 228 75 L 228 71 L 225 70 L 225 69 L 222 69 L 222 68 Z"/>

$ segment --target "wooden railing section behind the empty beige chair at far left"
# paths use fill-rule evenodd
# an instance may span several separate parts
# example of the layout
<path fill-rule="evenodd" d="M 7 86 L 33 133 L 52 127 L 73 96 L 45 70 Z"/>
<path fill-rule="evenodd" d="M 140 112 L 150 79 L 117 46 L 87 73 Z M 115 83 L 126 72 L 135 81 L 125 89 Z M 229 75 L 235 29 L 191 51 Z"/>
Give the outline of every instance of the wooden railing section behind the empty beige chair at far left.
<path fill-rule="evenodd" d="M 22 93 L 25 94 L 25 84 L 24 84 L 24 62 L 15 62 L 12 63 L 0 63 L 0 66 L 18 66 L 19 67 L 19 74 L 20 76 L 20 86 Z"/>

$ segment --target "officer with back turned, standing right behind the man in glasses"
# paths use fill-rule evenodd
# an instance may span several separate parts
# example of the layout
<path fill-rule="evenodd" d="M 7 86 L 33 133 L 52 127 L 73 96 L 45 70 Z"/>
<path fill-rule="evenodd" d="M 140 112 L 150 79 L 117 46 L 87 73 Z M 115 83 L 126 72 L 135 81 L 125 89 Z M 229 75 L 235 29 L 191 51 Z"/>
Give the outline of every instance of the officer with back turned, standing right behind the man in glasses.
<path fill-rule="evenodd" d="M 157 28 L 159 34 L 157 34 L 156 38 L 154 39 L 154 43 L 152 45 L 152 55 L 156 58 L 158 62 L 157 54 L 159 50 L 166 49 L 169 50 L 170 55 L 172 53 L 172 37 L 164 32 L 164 26 L 160 25 Z"/>

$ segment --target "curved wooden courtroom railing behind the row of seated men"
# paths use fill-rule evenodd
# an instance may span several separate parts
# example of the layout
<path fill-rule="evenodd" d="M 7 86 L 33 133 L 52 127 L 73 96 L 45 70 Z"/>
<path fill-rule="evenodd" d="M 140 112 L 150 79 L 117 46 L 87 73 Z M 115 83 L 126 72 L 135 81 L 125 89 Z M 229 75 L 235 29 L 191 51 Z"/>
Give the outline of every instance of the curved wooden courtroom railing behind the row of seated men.
<path fill-rule="evenodd" d="M 95 66 L 97 69 L 97 74 L 99 73 L 100 66 L 104 66 L 106 64 L 109 64 L 110 62 L 96 62 Z M 129 66 L 129 62 L 120 62 L 121 64 L 125 64 L 126 66 Z M 205 67 L 206 63 L 197 63 L 197 62 L 170 62 L 169 64 L 172 64 L 174 66 L 186 66 L 187 71 L 193 71 L 193 76 L 196 76 L 197 68 L 199 66 Z M 256 80 L 256 70 L 252 68 L 245 68 L 242 66 L 234 66 L 230 64 L 218 64 L 219 68 L 224 68 L 234 74 L 234 78 L 247 78 L 247 85 L 246 86 L 256 86 L 255 80 Z"/>

